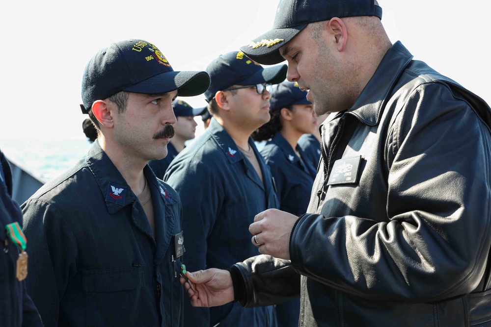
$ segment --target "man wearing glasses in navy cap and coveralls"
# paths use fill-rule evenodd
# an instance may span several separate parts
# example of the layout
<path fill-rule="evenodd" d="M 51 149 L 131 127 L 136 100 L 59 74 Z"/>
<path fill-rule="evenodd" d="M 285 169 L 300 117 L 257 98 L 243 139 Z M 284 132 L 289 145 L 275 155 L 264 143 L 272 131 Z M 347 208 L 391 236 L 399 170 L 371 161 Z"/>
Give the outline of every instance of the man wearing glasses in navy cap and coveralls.
<path fill-rule="evenodd" d="M 237 51 L 208 65 L 210 126 L 176 156 L 164 176 L 182 195 L 189 271 L 226 269 L 259 254 L 248 227 L 259 212 L 277 208 L 278 201 L 250 135 L 270 120 L 268 85 L 282 82 L 286 71 L 286 65 L 263 69 Z M 277 326 L 273 306 L 243 308 L 232 302 L 196 308 L 185 302 L 185 312 L 185 326 Z"/>

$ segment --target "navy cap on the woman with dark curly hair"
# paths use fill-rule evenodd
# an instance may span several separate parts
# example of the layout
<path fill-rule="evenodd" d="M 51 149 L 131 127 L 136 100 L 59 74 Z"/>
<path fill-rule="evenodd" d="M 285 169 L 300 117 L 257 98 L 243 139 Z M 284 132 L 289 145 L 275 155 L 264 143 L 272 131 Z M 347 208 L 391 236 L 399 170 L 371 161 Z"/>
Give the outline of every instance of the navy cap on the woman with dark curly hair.
<path fill-rule="evenodd" d="M 300 90 L 297 82 L 284 81 L 271 92 L 270 110 L 280 110 L 292 104 L 312 104 L 306 97 L 307 92 Z"/>

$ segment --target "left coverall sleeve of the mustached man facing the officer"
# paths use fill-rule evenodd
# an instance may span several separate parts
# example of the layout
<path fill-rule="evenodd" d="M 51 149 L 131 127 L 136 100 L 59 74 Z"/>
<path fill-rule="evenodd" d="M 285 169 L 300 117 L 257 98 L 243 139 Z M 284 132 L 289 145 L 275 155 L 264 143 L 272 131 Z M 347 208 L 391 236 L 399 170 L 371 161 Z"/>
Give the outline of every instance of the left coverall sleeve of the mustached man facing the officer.
<path fill-rule="evenodd" d="M 29 240 L 27 293 L 44 326 L 56 327 L 59 303 L 77 271 L 77 244 L 63 213 L 53 205 L 31 199 L 21 208 Z"/>

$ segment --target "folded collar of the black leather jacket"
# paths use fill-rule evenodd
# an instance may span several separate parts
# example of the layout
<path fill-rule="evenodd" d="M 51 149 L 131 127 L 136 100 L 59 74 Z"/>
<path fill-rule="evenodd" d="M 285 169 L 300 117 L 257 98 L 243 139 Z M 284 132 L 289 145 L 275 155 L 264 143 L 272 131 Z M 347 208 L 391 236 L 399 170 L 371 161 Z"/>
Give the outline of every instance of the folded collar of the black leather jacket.
<path fill-rule="evenodd" d="M 369 126 L 379 124 L 386 99 L 394 84 L 412 60 L 412 54 L 400 41 L 385 53 L 375 74 L 368 81 L 351 109 L 347 111 Z M 335 116 L 335 115 L 332 115 Z M 334 117 L 331 117 L 331 120 Z"/>

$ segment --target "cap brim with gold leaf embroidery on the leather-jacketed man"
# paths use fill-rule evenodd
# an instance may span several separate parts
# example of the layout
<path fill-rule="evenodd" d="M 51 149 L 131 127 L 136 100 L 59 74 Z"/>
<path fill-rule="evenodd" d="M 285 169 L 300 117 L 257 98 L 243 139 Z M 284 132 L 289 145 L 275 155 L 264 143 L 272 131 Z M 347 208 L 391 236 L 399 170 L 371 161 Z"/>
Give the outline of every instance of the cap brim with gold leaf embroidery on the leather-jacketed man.
<path fill-rule="evenodd" d="M 263 65 L 274 65 L 285 60 L 279 48 L 287 44 L 308 24 L 289 28 L 273 28 L 263 35 L 255 38 L 248 45 L 241 47 L 241 51 L 252 60 Z"/>

